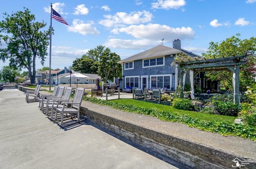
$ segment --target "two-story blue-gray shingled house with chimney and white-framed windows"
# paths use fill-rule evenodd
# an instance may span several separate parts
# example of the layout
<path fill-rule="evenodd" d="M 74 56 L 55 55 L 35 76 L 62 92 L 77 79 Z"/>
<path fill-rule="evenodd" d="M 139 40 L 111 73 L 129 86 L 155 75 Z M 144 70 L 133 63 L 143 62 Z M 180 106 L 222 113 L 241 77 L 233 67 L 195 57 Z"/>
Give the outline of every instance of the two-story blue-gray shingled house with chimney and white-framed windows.
<path fill-rule="evenodd" d="M 178 75 L 175 68 L 171 66 L 174 57 L 179 53 L 185 53 L 191 57 L 200 57 L 197 54 L 181 49 L 179 39 L 174 40 L 173 48 L 165 45 L 145 50 L 129 58 L 121 60 L 123 87 L 135 87 L 139 89 L 166 88 L 175 90 L 178 85 Z M 189 78 L 185 80 L 189 83 Z"/>

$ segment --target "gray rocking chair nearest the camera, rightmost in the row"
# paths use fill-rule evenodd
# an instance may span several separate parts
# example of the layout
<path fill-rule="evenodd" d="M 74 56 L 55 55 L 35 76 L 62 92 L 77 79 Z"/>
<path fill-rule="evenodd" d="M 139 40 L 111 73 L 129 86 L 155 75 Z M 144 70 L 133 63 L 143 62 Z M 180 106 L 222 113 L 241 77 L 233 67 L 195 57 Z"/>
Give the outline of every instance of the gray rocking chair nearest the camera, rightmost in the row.
<path fill-rule="evenodd" d="M 63 107 L 59 107 L 59 105 L 57 105 L 56 116 L 57 116 L 57 113 L 60 112 L 61 126 L 63 126 L 63 120 L 64 120 L 63 117 L 65 113 L 66 113 L 66 117 L 68 117 L 68 114 L 70 114 L 71 119 L 73 114 L 77 114 L 77 122 L 80 122 L 80 106 L 82 103 L 84 91 L 85 89 L 83 88 L 77 88 L 74 95 L 74 99 L 72 101 L 62 101 Z M 71 107 L 67 107 L 67 104 L 70 104 Z"/>

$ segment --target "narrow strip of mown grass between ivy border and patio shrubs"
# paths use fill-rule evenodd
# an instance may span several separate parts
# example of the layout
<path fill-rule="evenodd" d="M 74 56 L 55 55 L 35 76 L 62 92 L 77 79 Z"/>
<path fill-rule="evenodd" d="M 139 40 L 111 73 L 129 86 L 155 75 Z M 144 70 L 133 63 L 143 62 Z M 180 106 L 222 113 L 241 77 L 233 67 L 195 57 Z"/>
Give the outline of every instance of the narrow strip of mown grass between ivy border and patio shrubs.
<path fill-rule="evenodd" d="M 196 119 L 207 120 L 207 121 L 226 121 L 230 124 L 236 119 L 233 116 L 224 116 L 224 115 L 215 115 L 215 114 L 205 114 L 202 112 L 195 111 L 186 111 L 186 110 L 178 110 L 174 109 L 172 106 L 148 103 L 145 101 L 135 100 L 135 99 L 119 99 L 119 100 L 111 100 L 112 102 L 121 103 L 121 104 L 132 104 L 139 107 L 147 107 L 147 108 L 156 108 L 160 111 L 173 112 L 180 115 L 190 115 Z"/>

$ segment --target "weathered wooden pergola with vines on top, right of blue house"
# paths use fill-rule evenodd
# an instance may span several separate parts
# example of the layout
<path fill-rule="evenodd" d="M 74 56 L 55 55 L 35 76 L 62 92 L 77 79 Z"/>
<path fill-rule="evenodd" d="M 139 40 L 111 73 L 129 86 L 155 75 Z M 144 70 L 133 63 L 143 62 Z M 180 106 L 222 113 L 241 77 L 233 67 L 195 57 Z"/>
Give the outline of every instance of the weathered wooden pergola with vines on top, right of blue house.
<path fill-rule="evenodd" d="M 180 69 L 180 86 L 184 86 L 184 76 L 186 72 L 190 71 L 191 84 L 191 99 L 194 100 L 194 74 L 206 71 L 224 71 L 228 70 L 233 73 L 233 89 L 234 89 L 234 103 L 240 105 L 239 95 L 239 73 L 240 65 L 247 63 L 247 57 L 251 54 L 245 54 L 235 57 L 214 58 L 195 60 L 191 62 L 182 62 L 179 64 Z M 183 88 L 181 88 L 180 98 L 184 98 Z"/>

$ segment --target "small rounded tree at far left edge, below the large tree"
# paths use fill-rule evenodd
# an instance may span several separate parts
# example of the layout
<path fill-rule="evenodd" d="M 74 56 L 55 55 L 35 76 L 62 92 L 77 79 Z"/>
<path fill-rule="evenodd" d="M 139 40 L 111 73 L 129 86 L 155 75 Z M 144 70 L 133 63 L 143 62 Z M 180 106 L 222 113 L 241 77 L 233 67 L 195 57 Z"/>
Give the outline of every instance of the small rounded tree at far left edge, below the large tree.
<path fill-rule="evenodd" d="M 13 69 L 11 66 L 3 66 L 2 70 L 0 70 L 0 80 L 14 82 L 14 78 L 19 75 L 19 71 L 17 69 Z"/>

